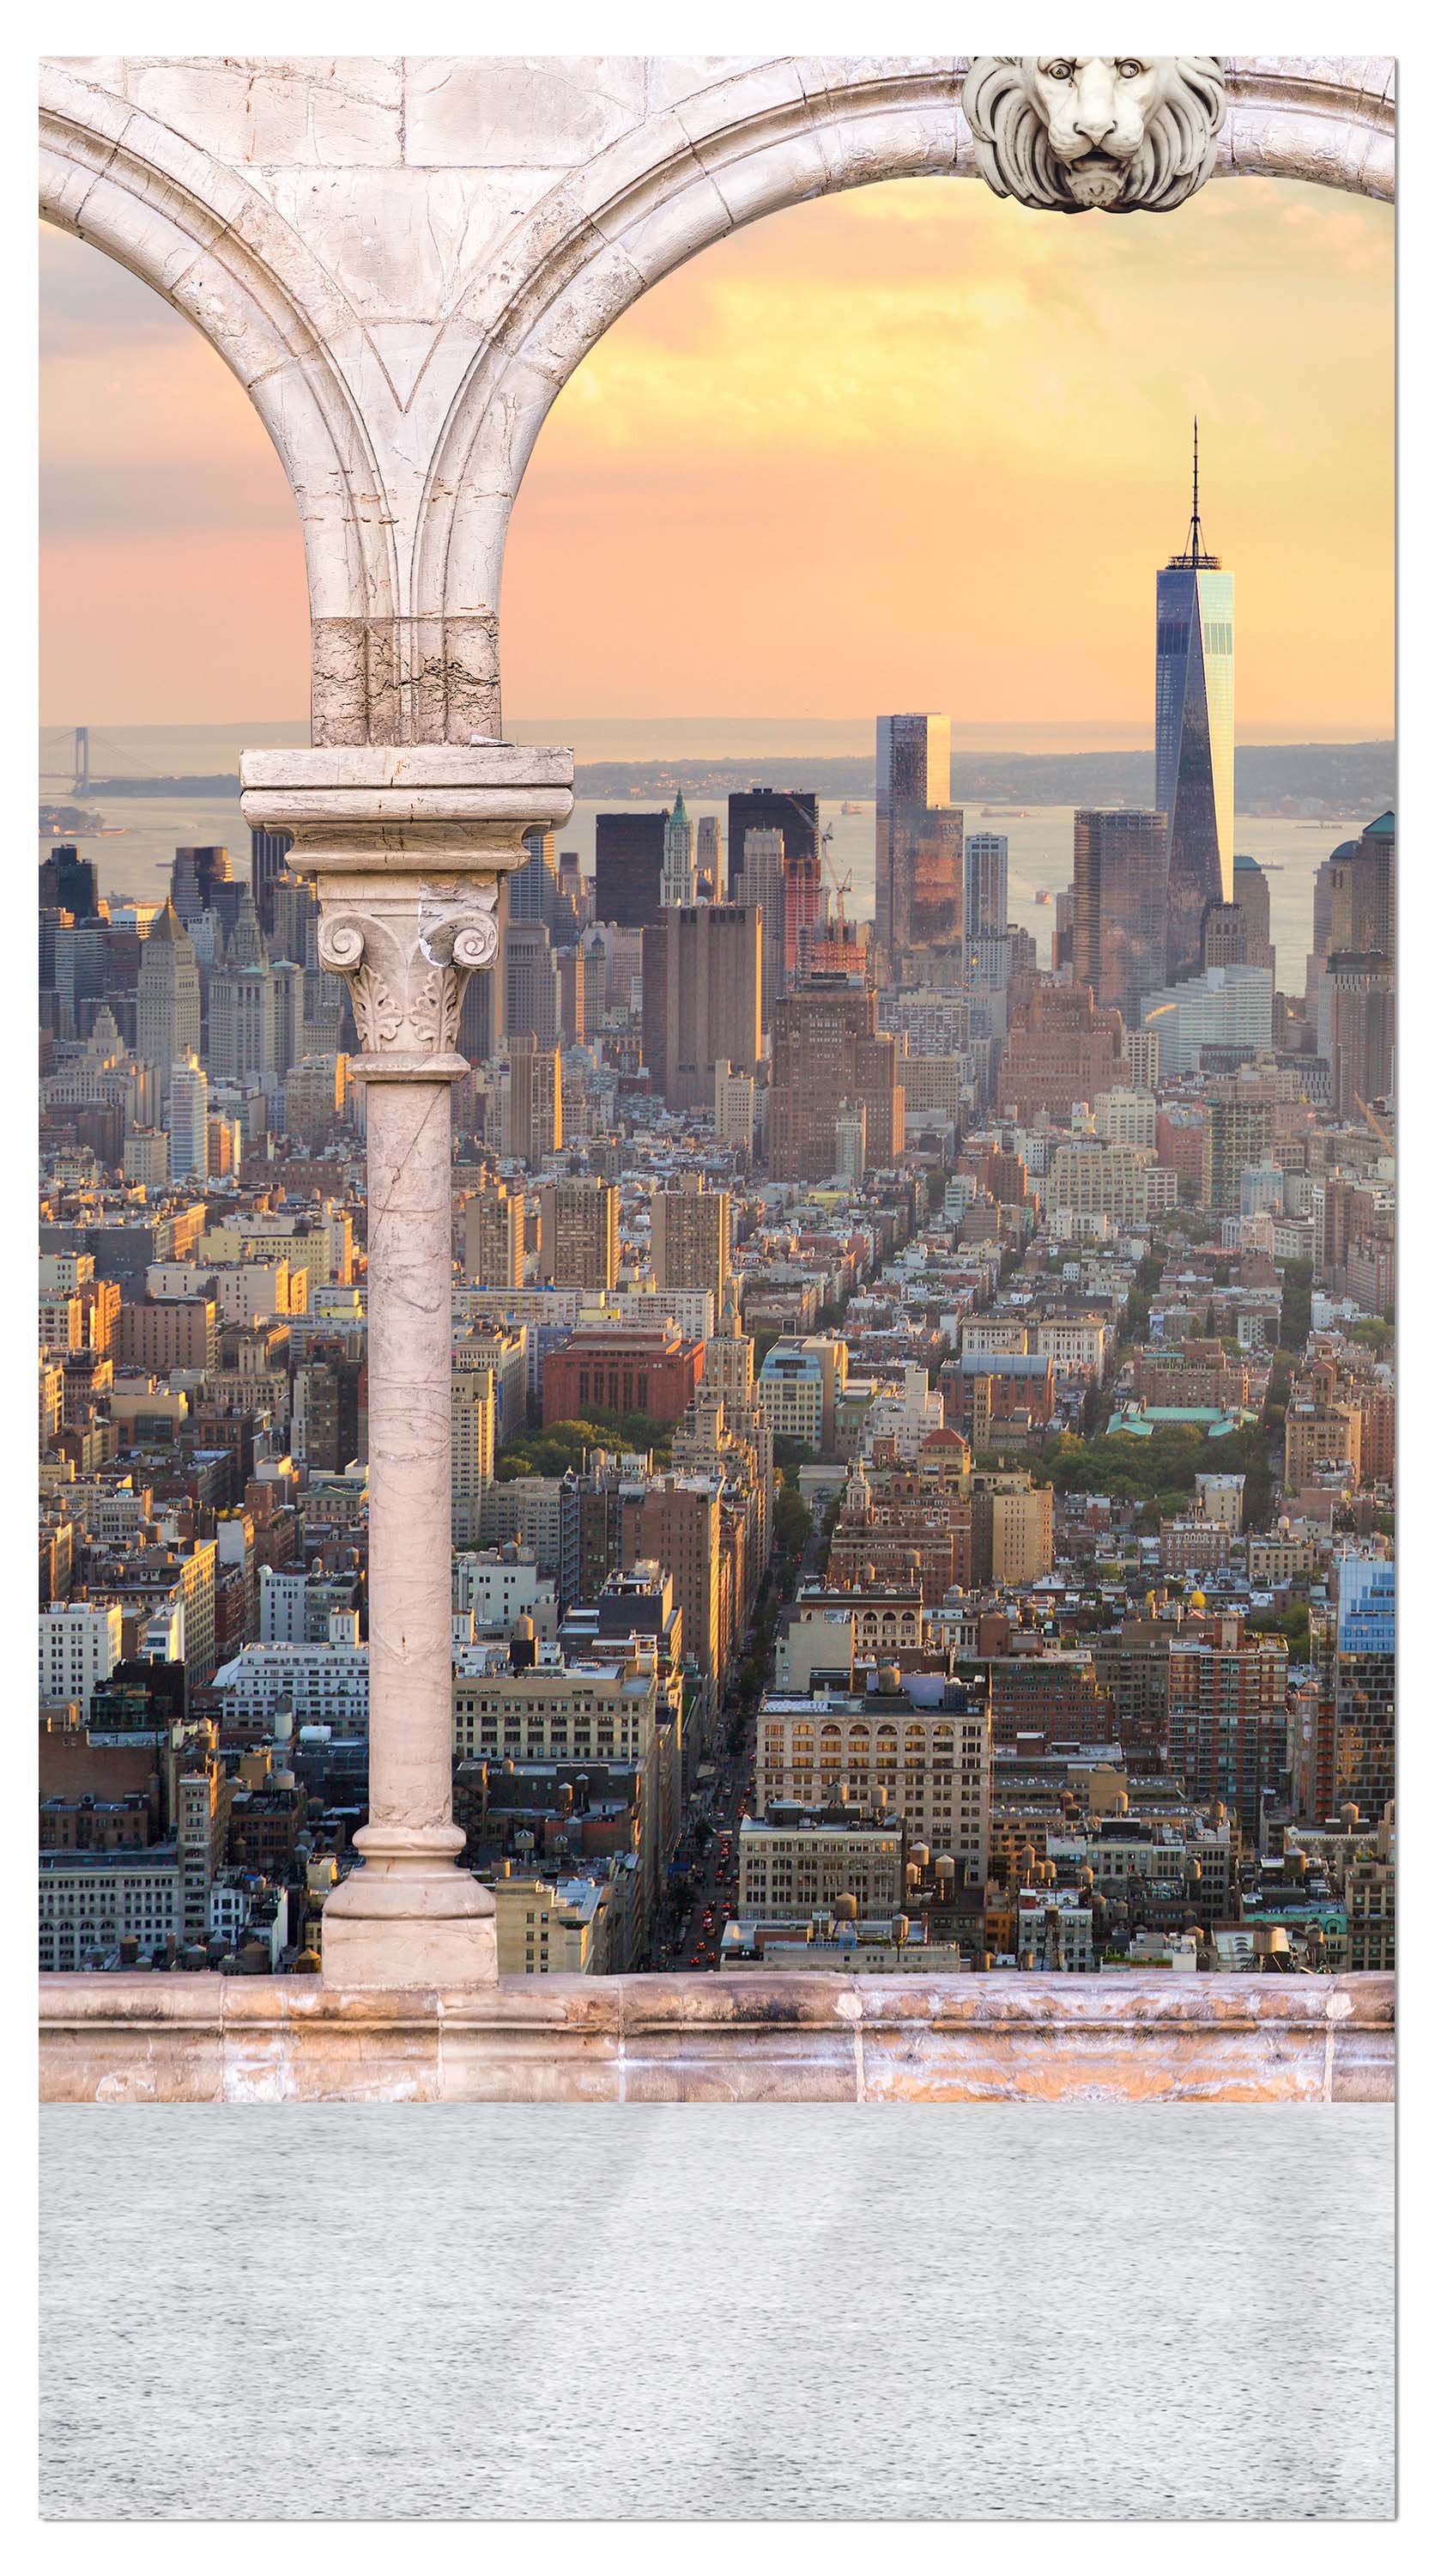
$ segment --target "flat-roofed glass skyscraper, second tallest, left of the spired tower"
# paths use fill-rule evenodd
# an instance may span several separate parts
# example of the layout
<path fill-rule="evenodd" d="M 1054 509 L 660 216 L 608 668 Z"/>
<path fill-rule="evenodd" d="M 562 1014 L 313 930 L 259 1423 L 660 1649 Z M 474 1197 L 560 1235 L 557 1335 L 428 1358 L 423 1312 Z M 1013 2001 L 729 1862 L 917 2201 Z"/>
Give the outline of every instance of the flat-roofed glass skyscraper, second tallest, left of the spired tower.
<path fill-rule="evenodd" d="M 951 801 L 951 719 L 876 719 L 876 945 L 964 938 L 961 806 Z"/>

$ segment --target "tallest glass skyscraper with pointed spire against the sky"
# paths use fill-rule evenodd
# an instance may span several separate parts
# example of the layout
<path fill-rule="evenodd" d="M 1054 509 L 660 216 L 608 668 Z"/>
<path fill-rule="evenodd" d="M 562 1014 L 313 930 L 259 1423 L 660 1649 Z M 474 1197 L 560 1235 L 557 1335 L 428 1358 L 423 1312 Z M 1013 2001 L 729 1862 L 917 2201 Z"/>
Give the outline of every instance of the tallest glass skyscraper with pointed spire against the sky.
<path fill-rule="evenodd" d="M 1201 971 L 1206 904 L 1231 902 L 1237 577 L 1206 551 L 1198 451 L 1185 551 L 1157 572 L 1157 806 L 1167 817 L 1167 981 Z"/>

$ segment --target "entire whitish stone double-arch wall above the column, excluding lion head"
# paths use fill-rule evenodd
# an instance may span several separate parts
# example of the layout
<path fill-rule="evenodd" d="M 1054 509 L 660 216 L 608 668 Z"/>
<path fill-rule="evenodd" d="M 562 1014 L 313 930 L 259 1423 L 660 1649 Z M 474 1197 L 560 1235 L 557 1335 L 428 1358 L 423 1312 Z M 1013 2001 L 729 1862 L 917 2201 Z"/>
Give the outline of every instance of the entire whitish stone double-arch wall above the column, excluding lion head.
<path fill-rule="evenodd" d="M 647 286 L 737 224 L 881 178 L 974 178 L 966 67 L 41 67 L 44 216 L 185 312 L 278 448 L 304 526 L 314 744 L 502 734 L 502 549 L 559 389 Z M 1394 193 L 1394 62 L 1231 57 L 1226 93 L 1216 178 Z"/>

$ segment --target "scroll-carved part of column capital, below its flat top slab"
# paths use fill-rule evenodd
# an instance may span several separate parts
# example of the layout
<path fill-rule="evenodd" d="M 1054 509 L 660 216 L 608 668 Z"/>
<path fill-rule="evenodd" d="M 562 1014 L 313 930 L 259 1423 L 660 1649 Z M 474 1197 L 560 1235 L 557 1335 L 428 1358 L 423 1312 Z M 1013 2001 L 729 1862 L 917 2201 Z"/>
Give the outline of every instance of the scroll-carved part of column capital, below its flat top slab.
<path fill-rule="evenodd" d="M 376 889 L 325 899 L 319 966 L 343 974 L 366 1056 L 451 1056 L 464 987 L 497 961 L 497 884 Z"/>

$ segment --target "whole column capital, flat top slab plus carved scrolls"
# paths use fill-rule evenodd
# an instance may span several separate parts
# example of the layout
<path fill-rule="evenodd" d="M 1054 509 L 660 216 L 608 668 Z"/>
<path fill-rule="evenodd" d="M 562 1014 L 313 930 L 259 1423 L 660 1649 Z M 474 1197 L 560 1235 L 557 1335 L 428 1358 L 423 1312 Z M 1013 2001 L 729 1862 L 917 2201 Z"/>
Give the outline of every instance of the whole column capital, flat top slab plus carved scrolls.
<path fill-rule="evenodd" d="M 572 752 L 523 742 L 245 752 L 245 822 L 314 878 L 319 963 L 343 974 L 368 1082 L 459 1082 L 469 974 L 497 961 L 500 878 L 572 814 Z"/>

